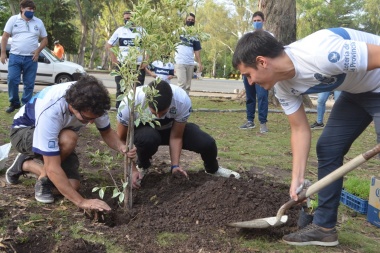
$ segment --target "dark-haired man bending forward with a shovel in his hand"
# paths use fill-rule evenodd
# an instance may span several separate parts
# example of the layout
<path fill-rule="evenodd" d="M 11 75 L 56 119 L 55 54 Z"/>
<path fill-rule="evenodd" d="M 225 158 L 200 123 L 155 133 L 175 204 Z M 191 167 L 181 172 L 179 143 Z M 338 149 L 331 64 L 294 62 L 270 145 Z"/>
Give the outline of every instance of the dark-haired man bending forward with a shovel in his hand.
<path fill-rule="evenodd" d="M 343 164 L 352 143 L 374 121 L 380 142 L 380 37 L 349 28 L 317 31 L 283 46 L 273 36 L 256 31 L 244 35 L 233 66 L 249 83 L 275 87 L 291 126 L 293 153 L 289 194 L 303 185 L 311 144 L 311 129 L 302 95 L 342 91 L 317 143 L 318 179 Z M 292 245 L 338 245 L 336 230 L 343 178 L 318 193 L 313 223 L 283 237 Z"/>

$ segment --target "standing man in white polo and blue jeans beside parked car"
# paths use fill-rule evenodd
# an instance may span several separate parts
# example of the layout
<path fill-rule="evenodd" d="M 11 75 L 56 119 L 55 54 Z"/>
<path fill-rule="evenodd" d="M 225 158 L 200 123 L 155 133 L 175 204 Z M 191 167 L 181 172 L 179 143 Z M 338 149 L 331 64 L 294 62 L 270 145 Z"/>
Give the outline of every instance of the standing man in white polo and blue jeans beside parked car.
<path fill-rule="evenodd" d="M 9 37 L 12 37 L 11 51 L 8 62 L 8 95 L 9 108 L 7 113 L 26 104 L 33 95 L 34 82 L 36 80 L 38 56 L 47 45 L 47 33 L 41 19 L 34 16 L 36 5 L 31 0 L 22 0 L 20 13 L 9 18 L 4 27 L 1 39 L 1 63 L 7 60 L 6 46 Z M 40 45 L 38 40 L 41 38 Z M 24 93 L 21 98 L 18 95 L 18 85 L 23 76 Z"/>

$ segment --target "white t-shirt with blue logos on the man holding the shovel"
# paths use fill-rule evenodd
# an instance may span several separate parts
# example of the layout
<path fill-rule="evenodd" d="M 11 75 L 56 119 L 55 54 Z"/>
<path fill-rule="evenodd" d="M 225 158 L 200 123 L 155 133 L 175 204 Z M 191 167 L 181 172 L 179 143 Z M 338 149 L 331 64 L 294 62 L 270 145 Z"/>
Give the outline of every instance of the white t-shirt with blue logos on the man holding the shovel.
<path fill-rule="evenodd" d="M 303 94 L 332 90 L 380 92 L 380 69 L 367 71 L 367 43 L 380 45 L 380 37 L 348 28 L 330 28 L 286 46 L 295 76 L 274 86 L 285 113 L 299 109 Z"/>

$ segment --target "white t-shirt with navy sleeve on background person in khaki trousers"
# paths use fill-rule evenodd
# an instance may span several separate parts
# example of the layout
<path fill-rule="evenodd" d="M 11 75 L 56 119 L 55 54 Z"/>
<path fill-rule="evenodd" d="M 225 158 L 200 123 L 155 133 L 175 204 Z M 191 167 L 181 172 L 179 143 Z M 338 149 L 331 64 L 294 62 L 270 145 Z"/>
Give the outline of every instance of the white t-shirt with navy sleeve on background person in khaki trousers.
<path fill-rule="evenodd" d="M 180 36 L 181 43 L 177 46 L 174 55 L 176 64 L 194 65 L 194 51 L 202 49 L 201 42 L 196 38 L 187 39 L 185 36 Z"/>

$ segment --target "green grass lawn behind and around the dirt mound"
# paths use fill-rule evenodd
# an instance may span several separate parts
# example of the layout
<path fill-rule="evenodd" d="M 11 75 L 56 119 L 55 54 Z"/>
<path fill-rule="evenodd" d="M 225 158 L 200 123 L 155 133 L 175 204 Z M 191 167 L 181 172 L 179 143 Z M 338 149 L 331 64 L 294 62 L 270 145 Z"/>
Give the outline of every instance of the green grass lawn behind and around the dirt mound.
<path fill-rule="evenodd" d="M 196 111 L 191 114 L 190 122 L 198 124 L 204 131 L 211 134 L 218 145 L 218 156 L 220 163 L 224 167 L 234 170 L 249 170 L 252 167 L 262 168 L 263 171 L 276 168 L 285 172 L 290 172 L 292 167 L 292 156 L 290 147 L 290 127 L 286 116 L 283 113 L 269 113 L 268 128 L 269 133 L 260 134 L 258 128 L 252 130 L 240 130 L 238 127 L 245 121 L 245 105 L 239 101 L 223 98 L 205 98 L 192 97 L 193 109 L 209 108 L 216 110 L 240 110 L 239 112 L 205 112 Z M 112 102 L 114 104 L 114 102 Z M 0 117 L 2 121 L 11 125 L 14 114 L 6 114 L 5 108 L 8 106 L 7 93 L 0 93 Z M 280 108 L 271 108 L 280 110 Z M 110 112 L 111 124 L 116 126 L 116 112 Z M 316 114 L 308 114 L 309 122 L 316 120 Z M 328 113 L 325 115 L 327 118 Z M 257 122 L 256 122 L 257 123 Z M 86 130 L 87 131 L 87 130 Z M 97 132 L 94 126 L 89 127 L 89 131 L 94 134 Z M 315 146 L 322 131 L 315 130 L 312 132 L 312 146 L 307 165 L 306 178 L 315 181 L 317 178 L 317 156 Z M 0 134 L 9 136 L 9 129 L 0 129 Z M 98 135 L 98 133 L 96 133 Z M 353 159 L 357 155 L 367 151 L 376 145 L 376 134 L 374 125 L 371 124 L 366 131 L 353 143 L 350 151 L 345 156 L 345 162 Z M 2 143 L 9 142 L 5 138 Z M 96 150 L 88 146 L 92 153 Z M 101 158 L 94 157 L 95 160 Z M 118 158 L 117 158 L 118 160 Z M 99 161 L 97 161 L 99 162 Z M 104 161 L 103 161 L 104 162 Z M 113 161 L 108 161 L 110 164 Z M 354 171 L 350 172 L 346 178 L 360 178 L 370 182 L 371 176 L 380 177 L 379 173 L 380 160 L 372 158 Z M 196 162 L 194 167 L 201 168 L 202 164 Z M 91 175 L 89 180 L 99 181 L 104 175 Z M 281 180 L 290 183 L 290 177 L 283 177 Z M 33 202 L 30 203 L 31 205 Z M 380 230 L 370 225 L 364 215 L 352 215 L 352 210 L 341 205 L 339 208 L 339 238 L 341 248 L 324 248 L 324 247 L 292 247 L 282 243 L 273 243 L 265 239 L 240 239 L 241 245 L 250 252 L 378 252 L 378 240 Z M 0 230 L 1 231 L 1 230 Z M 108 252 L 121 252 L 120 248 L 113 241 L 104 241 L 100 235 L 86 235 L 80 224 L 71 227 L 72 236 L 82 237 L 90 241 L 104 243 Z M 161 234 L 157 240 L 161 246 L 170 243 L 171 240 L 180 242 L 185 240 L 186 235 L 182 234 Z M 58 235 L 54 238 L 59 238 Z M 27 238 L 24 238 L 27 239 Z M 224 238 L 223 238 L 224 239 Z"/>

